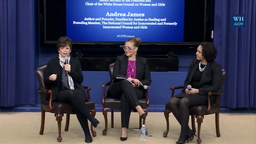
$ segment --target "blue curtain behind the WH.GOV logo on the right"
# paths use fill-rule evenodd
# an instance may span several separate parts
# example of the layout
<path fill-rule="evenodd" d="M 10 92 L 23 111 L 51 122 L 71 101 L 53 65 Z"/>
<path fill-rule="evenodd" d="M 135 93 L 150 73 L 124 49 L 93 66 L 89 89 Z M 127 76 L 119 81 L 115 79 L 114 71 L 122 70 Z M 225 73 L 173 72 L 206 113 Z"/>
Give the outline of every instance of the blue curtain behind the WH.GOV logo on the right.
<path fill-rule="evenodd" d="M 221 106 L 256 108 L 256 0 L 215 0 L 216 61 L 226 70 Z M 245 27 L 233 28 L 232 15 L 245 15 Z"/>

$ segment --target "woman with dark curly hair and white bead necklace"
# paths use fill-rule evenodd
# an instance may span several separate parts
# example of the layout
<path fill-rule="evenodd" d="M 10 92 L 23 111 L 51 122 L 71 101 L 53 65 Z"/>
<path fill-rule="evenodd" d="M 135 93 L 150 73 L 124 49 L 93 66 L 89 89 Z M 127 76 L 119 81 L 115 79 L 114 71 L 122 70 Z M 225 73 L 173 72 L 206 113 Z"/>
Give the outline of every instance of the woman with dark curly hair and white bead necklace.
<path fill-rule="evenodd" d="M 189 126 L 189 108 L 207 104 L 207 93 L 217 92 L 220 88 L 221 65 L 215 62 L 216 47 L 210 42 L 202 42 L 197 47 L 196 59 L 190 64 L 187 78 L 184 81 L 184 92 L 172 97 L 170 110 L 181 124 L 181 133 L 177 144 L 192 141 L 195 135 Z M 188 85 L 192 88 L 188 89 Z M 214 102 L 215 97 L 211 97 Z M 195 135 L 196 136 L 196 135 Z"/>

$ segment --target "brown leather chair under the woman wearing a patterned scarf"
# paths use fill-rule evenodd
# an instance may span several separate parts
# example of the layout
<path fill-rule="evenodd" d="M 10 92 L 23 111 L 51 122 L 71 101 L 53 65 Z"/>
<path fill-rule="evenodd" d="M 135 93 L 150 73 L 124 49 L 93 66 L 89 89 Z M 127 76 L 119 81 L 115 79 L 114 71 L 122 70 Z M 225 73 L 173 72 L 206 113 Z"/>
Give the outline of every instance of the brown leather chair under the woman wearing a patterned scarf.
<path fill-rule="evenodd" d="M 46 65 L 41 66 L 37 68 L 36 70 L 36 76 L 39 82 L 38 91 L 40 92 L 41 96 L 41 129 L 39 134 L 43 134 L 44 130 L 44 118 L 45 118 L 45 112 L 51 112 L 55 113 L 54 116 L 56 117 L 56 120 L 58 122 L 58 129 L 59 129 L 59 137 L 57 138 L 58 142 L 61 142 L 61 121 L 62 117 L 64 116 L 64 113 L 67 114 L 66 117 L 66 126 L 65 131 L 68 131 L 69 127 L 69 117 L 70 114 L 75 114 L 74 110 L 72 109 L 71 105 L 68 103 L 61 103 L 61 102 L 52 102 L 52 90 L 47 87 L 47 85 L 43 82 L 43 77 L 45 75 L 45 69 Z M 86 106 L 89 108 L 91 114 L 95 117 L 96 111 L 95 111 L 95 103 L 91 101 L 90 97 L 90 86 L 84 86 L 85 89 L 87 89 L 87 96 L 89 99 L 89 102 L 86 102 Z M 93 125 L 91 124 L 91 132 L 93 137 L 96 137 L 96 132 L 93 131 Z"/>

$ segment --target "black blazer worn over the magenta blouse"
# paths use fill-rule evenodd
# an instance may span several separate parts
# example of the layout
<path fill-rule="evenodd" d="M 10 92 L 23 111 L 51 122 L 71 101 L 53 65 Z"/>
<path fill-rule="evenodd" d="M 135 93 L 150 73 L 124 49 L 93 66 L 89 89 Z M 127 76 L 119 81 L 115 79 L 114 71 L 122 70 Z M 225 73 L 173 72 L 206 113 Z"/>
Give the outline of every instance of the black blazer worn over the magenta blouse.
<path fill-rule="evenodd" d="M 128 78 L 126 76 L 126 70 L 128 65 L 128 57 L 127 56 L 118 56 L 115 62 L 115 66 L 113 69 L 113 82 L 118 81 L 116 77 Z M 138 79 L 144 85 L 150 85 L 151 76 L 149 71 L 149 64 L 146 58 L 142 58 L 136 56 L 136 79 Z M 111 83 L 109 88 L 113 85 Z"/>

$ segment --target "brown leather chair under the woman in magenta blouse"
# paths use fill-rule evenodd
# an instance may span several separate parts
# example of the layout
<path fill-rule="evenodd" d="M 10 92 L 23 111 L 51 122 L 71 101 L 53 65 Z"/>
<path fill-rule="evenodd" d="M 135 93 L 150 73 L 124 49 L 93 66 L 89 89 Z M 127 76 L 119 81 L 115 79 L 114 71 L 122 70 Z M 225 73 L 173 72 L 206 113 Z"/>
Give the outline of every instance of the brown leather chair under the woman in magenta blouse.
<path fill-rule="evenodd" d="M 102 113 L 103 113 L 104 119 L 105 119 L 105 129 L 102 131 L 102 135 L 107 134 L 107 112 L 108 112 L 108 110 L 111 109 L 111 128 L 114 128 L 114 109 L 121 110 L 121 100 L 120 99 L 114 99 L 114 98 L 109 98 L 109 97 L 105 98 L 106 86 L 110 85 L 111 82 L 113 82 L 112 75 L 113 75 L 114 65 L 115 65 L 115 63 L 111 63 L 108 67 L 110 81 L 108 81 L 102 85 L 103 95 L 102 95 L 102 99 L 101 99 L 101 104 L 103 106 Z M 148 89 L 149 88 L 150 88 L 150 86 L 148 86 Z M 148 89 L 145 90 L 147 98 L 139 99 L 139 104 L 146 114 L 148 114 L 148 107 L 150 105 Z M 142 126 L 141 121 L 142 121 L 142 119 L 140 119 L 140 117 L 139 117 L 139 128 L 141 128 L 141 126 Z M 143 119 L 143 124 L 145 124 L 144 119 Z"/>

